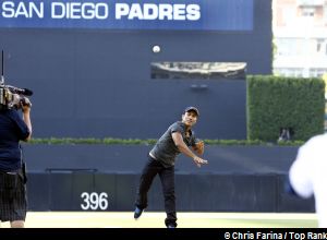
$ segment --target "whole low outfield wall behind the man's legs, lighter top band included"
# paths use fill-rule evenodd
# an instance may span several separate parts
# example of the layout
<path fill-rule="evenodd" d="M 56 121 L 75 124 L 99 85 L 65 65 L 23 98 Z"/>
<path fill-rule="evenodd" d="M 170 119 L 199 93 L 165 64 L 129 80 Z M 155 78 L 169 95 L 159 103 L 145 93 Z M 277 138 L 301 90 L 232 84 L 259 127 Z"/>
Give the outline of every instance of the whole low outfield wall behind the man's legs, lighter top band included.
<path fill-rule="evenodd" d="M 25 145 L 32 211 L 132 211 L 150 146 Z M 298 147 L 207 146 L 209 165 L 180 156 L 177 207 L 185 212 L 314 212 L 284 192 Z M 156 178 L 148 211 L 164 211 Z"/>

